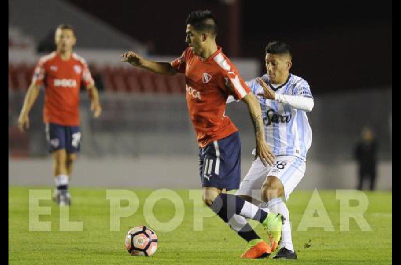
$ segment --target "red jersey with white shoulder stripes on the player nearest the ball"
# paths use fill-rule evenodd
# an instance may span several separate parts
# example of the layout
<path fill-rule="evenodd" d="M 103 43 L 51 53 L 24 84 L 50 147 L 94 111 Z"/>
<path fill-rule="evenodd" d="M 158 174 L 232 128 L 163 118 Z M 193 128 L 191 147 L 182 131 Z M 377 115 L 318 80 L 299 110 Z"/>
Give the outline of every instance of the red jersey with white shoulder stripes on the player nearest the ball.
<path fill-rule="evenodd" d="M 242 99 L 250 89 L 221 47 L 205 60 L 188 47 L 171 65 L 185 73 L 186 103 L 200 147 L 238 131 L 224 114 L 227 97 Z M 233 91 L 226 87 L 226 81 Z"/>

